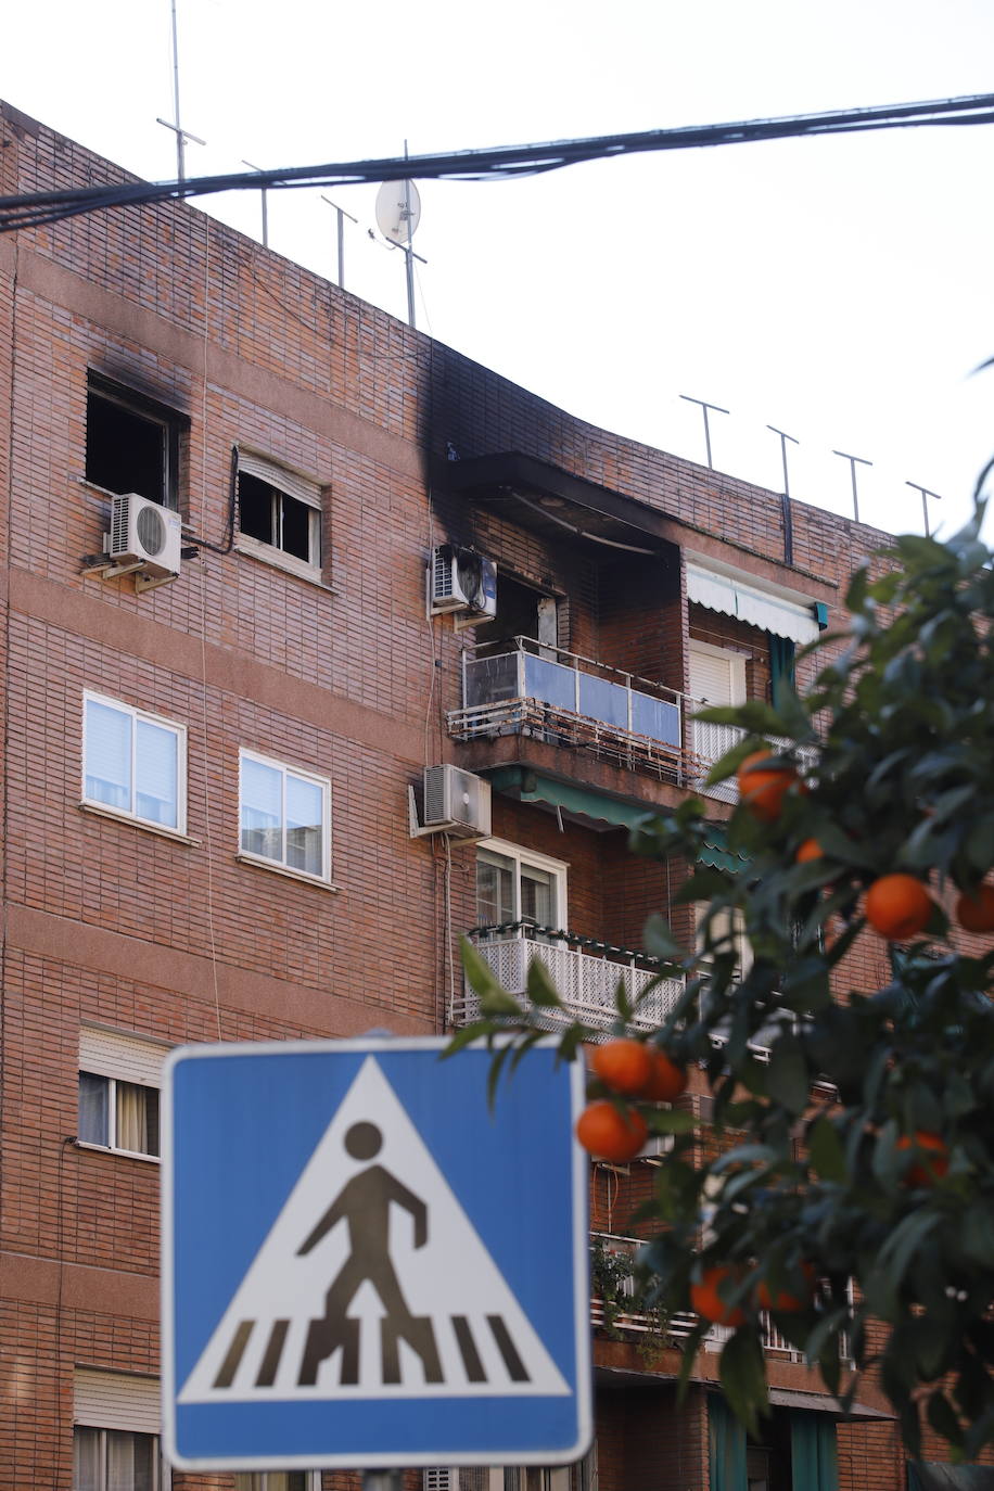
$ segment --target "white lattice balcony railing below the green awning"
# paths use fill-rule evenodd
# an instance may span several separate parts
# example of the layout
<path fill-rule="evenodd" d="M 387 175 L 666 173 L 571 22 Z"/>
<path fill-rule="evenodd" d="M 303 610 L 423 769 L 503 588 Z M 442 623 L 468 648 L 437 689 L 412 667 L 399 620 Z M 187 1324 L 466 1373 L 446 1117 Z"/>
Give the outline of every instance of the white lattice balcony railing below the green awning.
<path fill-rule="evenodd" d="M 471 938 L 508 993 L 526 993 L 528 965 L 538 959 L 548 969 L 569 1018 L 583 1020 L 596 1029 L 607 1030 L 617 1020 L 618 980 L 629 1003 L 636 1006 L 630 1023 L 639 1030 L 657 1029 L 684 987 L 677 978 L 665 978 L 639 1000 L 657 977 L 656 960 L 571 932 L 513 921 L 499 927 L 477 927 Z M 468 1024 L 478 1018 L 478 1012 L 477 996 L 466 984 L 452 1012 L 453 1021 Z"/>

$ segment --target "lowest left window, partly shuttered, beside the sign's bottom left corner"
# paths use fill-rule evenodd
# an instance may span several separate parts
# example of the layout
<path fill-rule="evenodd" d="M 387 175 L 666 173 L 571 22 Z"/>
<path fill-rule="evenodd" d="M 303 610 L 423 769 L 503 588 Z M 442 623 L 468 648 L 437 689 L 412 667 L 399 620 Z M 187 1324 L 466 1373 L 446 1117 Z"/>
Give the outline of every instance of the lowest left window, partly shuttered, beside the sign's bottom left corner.
<path fill-rule="evenodd" d="M 77 1367 L 73 1419 L 73 1491 L 167 1491 L 153 1378 Z"/>

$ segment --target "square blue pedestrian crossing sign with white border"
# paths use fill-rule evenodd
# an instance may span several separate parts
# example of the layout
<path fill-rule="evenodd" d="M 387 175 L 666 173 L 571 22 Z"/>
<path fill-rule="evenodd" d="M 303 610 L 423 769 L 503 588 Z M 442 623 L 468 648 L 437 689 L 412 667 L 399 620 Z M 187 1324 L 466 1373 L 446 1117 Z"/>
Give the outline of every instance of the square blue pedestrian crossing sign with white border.
<path fill-rule="evenodd" d="M 578 1065 L 539 1042 L 165 1066 L 162 1393 L 186 1470 L 568 1464 L 590 1440 Z"/>

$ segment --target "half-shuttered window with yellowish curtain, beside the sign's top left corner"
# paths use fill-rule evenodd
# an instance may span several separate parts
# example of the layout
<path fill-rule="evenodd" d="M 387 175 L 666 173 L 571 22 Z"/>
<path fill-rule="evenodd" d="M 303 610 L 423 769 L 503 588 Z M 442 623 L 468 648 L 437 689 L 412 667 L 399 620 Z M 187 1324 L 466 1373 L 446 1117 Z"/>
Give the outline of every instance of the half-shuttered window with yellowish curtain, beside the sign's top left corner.
<path fill-rule="evenodd" d="M 79 1144 L 158 1159 L 159 1082 L 168 1047 L 118 1030 L 79 1032 Z"/>

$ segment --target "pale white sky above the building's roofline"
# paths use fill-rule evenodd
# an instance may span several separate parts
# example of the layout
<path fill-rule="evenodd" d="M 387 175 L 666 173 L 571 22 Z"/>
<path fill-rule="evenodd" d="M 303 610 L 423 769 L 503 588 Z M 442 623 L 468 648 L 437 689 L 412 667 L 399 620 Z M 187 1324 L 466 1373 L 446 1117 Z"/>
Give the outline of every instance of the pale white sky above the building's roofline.
<path fill-rule="evenodd" d="M 4 16 L 0 97 L 176 176 L 171 0 Z M 188 176 L 994 91 L 991 0 L 176 0 Z M 57 45 L 54 45 L 57 42 Z M 776 140 L 419 185 L 419 330 L 569 413 L 891 532 L 972 510 L 994 455 L 994 125 Z M 329 195 L 329 194 L 325 194 Z M 344 285 L 407 316 L 404 255 L 338 188 Z M 200 198 L 261 237 L 255 192 Z M 316 189 L 270 248 L 337 277 Z M 988 531 L 994 522 L 988 525 Z"/>

